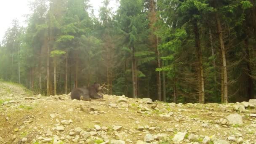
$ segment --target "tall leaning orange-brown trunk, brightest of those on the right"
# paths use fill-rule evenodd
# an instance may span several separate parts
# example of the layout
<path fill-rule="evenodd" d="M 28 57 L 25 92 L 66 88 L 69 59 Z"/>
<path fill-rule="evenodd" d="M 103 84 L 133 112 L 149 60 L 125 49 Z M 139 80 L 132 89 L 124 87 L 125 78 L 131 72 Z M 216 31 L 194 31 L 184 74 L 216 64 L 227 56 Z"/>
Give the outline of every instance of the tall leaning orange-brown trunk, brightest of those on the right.
<path fill-rule="evenodd" d="M 228 102 L 228 81 L 227 81 L 227 61 L 226 61 L 226 50 L 223 41 L 223 33 L 221 28 L 221 21 L 218 14 L 216 13 L 216 26 L 219 34 L 219 43 L 221 47 L 221 57 L 222 57 L 222 69 L 223 69 L 223 102 Z"/>

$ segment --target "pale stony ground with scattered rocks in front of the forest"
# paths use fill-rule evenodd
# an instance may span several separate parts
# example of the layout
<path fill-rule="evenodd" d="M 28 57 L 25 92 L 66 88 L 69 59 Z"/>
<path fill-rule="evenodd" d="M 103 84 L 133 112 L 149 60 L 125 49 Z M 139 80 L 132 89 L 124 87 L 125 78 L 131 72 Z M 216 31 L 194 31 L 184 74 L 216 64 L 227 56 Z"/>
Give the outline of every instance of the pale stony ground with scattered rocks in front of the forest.
<path fill-rule="evenodd" d="M 0 82 L 0 144 L 256 144 L 254 104 L 77 101 Z"/>

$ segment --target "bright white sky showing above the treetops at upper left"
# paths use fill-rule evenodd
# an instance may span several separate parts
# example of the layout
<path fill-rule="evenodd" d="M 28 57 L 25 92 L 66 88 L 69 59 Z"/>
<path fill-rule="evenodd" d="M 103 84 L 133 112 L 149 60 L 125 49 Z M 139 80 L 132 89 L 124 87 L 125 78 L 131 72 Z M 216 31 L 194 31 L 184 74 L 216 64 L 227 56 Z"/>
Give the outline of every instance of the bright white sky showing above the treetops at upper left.
<path fill-rule="evenodd" d="M 8 27 L 11 27 L 13 19 L 17 18 L 20 26 L 26 26 L 26 14 L 30 13 L 28 3 L 31 0 L 0 0 L 0 43 Z M 90 0 L 91 5 L 95 9 L 95 13 L 99 11 L 102 0 Z M 117 7 L 116 0 L 111 0 L 111 7 Z"/>

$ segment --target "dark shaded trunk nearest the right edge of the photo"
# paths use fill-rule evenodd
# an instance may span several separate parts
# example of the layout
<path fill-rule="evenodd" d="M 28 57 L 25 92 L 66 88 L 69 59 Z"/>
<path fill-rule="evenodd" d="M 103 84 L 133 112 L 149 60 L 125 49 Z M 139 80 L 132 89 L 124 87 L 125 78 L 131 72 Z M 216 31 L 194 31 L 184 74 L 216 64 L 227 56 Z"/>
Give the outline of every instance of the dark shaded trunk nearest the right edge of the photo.
<path fill-rule="evenodd" d="M 252 71 L 251 71 L 251 57 L 250 57 L 250 50 L 249 50 L 249 45 L 248 45 L 248 38 L 245 39 L 245 53 L 246 53 L 246 65 L 247 65 L 247 79 L 248 79 L 248 87 L 247 87 L 247 93 L 248 93 L 248 99 L 254 99 L 254 83 L 251 78 Z"/>

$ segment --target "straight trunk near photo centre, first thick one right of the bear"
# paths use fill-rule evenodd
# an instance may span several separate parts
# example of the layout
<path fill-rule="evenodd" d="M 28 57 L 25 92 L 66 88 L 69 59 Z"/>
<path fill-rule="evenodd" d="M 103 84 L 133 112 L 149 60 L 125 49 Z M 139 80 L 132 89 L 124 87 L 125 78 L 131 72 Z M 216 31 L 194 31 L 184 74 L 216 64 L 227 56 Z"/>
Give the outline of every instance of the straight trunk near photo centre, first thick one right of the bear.
<path fill-rule="evenodd" d="M 137 98 L 137 81 L 136 81 L 136 60 L 135 60 L 135 50 L 133 47 L 131 47 L 132 50 L 132 79 L 133 79 L 133 98 Z"/>

